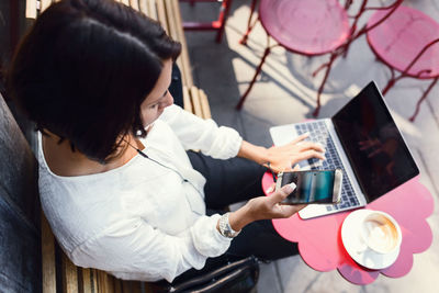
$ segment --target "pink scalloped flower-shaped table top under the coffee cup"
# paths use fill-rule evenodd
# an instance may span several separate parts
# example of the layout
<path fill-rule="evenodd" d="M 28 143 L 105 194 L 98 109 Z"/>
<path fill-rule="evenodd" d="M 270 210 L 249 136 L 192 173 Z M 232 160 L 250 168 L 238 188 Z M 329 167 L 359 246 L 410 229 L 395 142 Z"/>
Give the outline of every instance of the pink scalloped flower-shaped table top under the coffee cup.
<path fill-rule="evenodd" d="M 272 182 L 271 173 L 266 173 L 262 178 L 263 190 Z M 425 251 L 432 241 L 432 233 L 426 221 L 434 211 L 430 192 L 416 177 L 368 204 L 365 209 L 389 213 L 398 222 L 403 232 L 398 258 L 391 267 L 382 270 L 361 267 L 345 250 L 341 224 L 352 211 L 312 219 L 302 219 L 295 214 L 290 218 L 273 219 L 273 225 L 282 237 L 297 243 L 301 257 L 315 270 L 337 269 L 346 280 L 354 284 L 372 283 L 380 273 L 392 278 L 407 274 L 413 266 L 413 253 Z"/>

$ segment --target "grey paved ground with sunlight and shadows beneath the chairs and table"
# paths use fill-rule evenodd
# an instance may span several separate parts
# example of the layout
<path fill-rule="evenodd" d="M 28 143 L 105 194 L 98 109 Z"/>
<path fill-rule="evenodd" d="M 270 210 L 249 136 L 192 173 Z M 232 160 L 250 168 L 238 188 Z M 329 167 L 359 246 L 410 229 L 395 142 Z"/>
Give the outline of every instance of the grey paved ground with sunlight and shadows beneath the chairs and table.
<path fill-rule="evenodd" d="M 246 29 L 249 4 L 250 0 L 234 1 L 222 44 L 214 42 L 212 32 L 191 32 L 187 33 L 188 45 L 195 83 L 206 91 L 214 120 L 235 127 L 251 143 L 270 146 L 272 142 L 268 134 L 269 127 L 311 117 L 316 88 L 322 79 L 322 76 L 313 79 L 311 72 L 327 57 L 306 58 L 275 48 L 268 57 L 262 75 L 243 111 L 237 112 L 234 106 L 251 80 L 266 44 L 266 35 L 260 25 L 250 35 L 248 46 L 238 44 Z M 416 7 L 439 20 L 437 0 L 412 0 L 404 4 Z M 199 3 L 195 8 L 183 4 L 183 19 L 214 18 L 213 7 L 212 3 Z M 370 80 L 375 80 L 382 88 L 389 77 L 389 70 L 375 60 L 365 40 L 358 40 L 347 59 L 335 65 L 324 91 L 319 116 L 334 114 Z M 337 271 L 317 272 L 307 267 L 299 256 L 291 257 L 261 266 L 259 292 L 437 292 L 439 86 L 430 92 L 416 122 L 410 123 L 407 120 L 414 111 L 417 97 L 420 97 L 426 86 L 428 82 L 425 81 L 402 80 L 385 99 L 420 168 L 420 180 L 435 198 L 435 212 L 428 218 L 434 230 L 431 247 L 414 256 L 413 269 L 404 278 L 394 280 L 380 275 L 374 283 L 367 286 L 347 282 Z"/>

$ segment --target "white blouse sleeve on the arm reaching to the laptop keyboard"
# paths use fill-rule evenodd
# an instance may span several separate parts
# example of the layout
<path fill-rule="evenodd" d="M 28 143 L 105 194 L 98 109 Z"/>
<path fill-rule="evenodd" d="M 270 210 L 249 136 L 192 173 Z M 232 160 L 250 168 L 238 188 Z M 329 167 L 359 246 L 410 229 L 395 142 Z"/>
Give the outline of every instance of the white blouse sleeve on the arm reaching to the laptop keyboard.
<path fill-rule="evenodd" d="M 203 120 L 175 104 L 165 110 L 160 120 L 172 128 L 185 149 L 200 149 L 213 158 L 235 157 L 243 143 L 235 129 L 218 127 L 213 120 Z"/>

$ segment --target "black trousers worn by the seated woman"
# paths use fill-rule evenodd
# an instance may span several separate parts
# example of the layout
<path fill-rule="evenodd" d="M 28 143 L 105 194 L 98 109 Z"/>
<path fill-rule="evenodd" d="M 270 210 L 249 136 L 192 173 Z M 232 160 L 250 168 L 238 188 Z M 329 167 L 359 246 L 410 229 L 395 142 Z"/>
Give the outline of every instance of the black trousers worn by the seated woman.
<path fill-rule="evenodd" d="M 261 179 L 267 169 L 256 162 L 243 158 L 217 160 L 194 151 L 188 151 L 188 156 L 193 168 L 206 178 L 207 214 L 223 214 L 229 204 L 263 195 Z M 257 221 L 244 227 L 223 256 L 209 258 L 203 269 L 191 269 L 178 277 L 176 282 L 249 256 L 271 261 L 296 253 L 296 244 L 279 236 L 270 219 Z"/>

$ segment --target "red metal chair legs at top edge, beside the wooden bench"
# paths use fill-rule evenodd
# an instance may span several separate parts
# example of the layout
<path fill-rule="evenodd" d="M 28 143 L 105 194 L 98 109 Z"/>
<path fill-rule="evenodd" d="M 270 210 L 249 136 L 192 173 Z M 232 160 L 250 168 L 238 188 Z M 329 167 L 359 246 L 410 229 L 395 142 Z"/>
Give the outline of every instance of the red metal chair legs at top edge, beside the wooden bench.
<path fill-rule="evenodd" d="M 221 43 L 232 0 L 180 0 L 180 2 L 190 2 L 192 5 L 195 2 L 222 2 L 217 20 L 207 23 L 183 22 L 183 29 L 187 31 L 217 31 L 215 41 Z"/>

